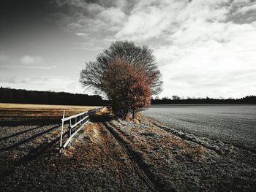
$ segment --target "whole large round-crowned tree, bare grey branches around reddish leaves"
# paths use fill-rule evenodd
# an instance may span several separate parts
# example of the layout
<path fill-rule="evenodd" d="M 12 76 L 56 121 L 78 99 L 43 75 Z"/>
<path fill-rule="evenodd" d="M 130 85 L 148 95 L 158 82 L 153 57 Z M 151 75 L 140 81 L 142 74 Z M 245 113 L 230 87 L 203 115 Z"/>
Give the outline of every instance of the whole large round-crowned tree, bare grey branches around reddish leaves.
<path fill-rule="evenodd" d="M 113 42 L 97 55 L 96 61 L 86 63 L 86 69 L 80 72 L 80 82 L 85 88 L 108 96 L 118 118 L 148 107 L 151 95 L 162 91 L 161 74 L 152 50 L 137 47 L 133 42 Z"/>

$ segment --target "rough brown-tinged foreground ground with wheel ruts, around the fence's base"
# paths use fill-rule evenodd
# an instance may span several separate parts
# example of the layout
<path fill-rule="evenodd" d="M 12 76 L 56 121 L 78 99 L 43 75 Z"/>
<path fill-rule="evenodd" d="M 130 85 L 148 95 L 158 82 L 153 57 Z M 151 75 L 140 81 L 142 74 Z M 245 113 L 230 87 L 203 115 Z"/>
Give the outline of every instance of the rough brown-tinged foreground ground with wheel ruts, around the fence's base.
<path fill-rule="evenodd" d="M 59 118 L 1 125 L 1 191 L 256 191 L 255 153 L 143 115 L 99 112 L 61 154 Z"/>

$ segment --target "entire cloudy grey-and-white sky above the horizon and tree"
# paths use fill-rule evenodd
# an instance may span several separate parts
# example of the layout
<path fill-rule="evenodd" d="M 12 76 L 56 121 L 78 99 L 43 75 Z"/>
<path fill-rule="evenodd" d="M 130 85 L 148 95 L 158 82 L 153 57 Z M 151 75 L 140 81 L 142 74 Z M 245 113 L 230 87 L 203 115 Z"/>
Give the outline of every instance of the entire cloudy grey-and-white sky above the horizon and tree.
<path fill-rule="evenodd" d="M 119 40 L 154 50 L 160 98 L 256 94 L 252 0 L 3 0 L 0 86 L 91 94 L 80 70 Z"/>

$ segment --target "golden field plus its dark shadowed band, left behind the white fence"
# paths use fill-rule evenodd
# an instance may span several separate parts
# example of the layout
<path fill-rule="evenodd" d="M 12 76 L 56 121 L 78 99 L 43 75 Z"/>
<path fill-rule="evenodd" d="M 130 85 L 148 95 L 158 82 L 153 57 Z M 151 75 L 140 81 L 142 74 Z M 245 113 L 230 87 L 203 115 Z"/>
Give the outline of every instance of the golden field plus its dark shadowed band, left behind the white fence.
<path fill-rule="evenodd" d="M 99 106 L 0 103 L 0 126 L 56 124 L 60 123 L 64 111 L 67 117 L 97 107 Z"/>

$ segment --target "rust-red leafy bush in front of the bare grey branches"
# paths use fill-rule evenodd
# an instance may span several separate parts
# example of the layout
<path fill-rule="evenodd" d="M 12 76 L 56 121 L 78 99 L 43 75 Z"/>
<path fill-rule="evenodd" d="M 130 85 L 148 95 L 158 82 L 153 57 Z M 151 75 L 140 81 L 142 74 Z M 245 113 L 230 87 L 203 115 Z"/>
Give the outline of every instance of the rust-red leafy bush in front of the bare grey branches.
<path fill-rule="evenodd" d="M 109 64 L 104 83 L 119 118 L 126 118 L 129 110 L 150 105 L 152 78 L 127 61 L 116 59 Z"/>

